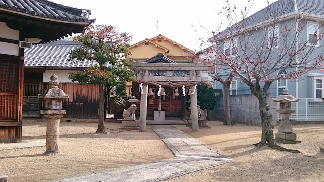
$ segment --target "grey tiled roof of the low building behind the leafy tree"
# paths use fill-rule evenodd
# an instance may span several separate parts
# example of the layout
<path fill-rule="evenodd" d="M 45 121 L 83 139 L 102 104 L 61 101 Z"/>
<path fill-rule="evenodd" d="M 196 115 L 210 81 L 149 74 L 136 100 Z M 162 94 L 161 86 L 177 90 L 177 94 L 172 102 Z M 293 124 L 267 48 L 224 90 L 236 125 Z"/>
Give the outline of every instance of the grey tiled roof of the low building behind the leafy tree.
<path fill-rule="evenodd" d="M 1 0 L 0 0 L 1 1 Z M 69 67 L 69 68 L 87 68 L 98 65 L 95 61 L 68 61 L 71 50 L 79 47 L 80 43 L 72 43 L 67 40 L 58 40 L 45 44 L 33 45 L 31 49 L 25 49 L 25 67 Z"/>

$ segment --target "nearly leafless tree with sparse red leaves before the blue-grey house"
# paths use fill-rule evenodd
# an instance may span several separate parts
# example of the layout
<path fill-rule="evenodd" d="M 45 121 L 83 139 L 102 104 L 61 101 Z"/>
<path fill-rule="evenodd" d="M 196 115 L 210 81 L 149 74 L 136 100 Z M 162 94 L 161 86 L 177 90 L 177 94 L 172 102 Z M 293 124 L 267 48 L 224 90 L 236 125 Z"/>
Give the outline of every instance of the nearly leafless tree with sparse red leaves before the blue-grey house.
<path fill-rule="evenodd" d="M 287 150 L 274 142 L 267 100 L 270 85 L 282 79 L 299 81 L 303 74 L 318 69 L 324 61 L 323 19 L 316 18 L 313 11 L 316 7 L 312 7 L 315 5 L 303 3 L 305 7 L 297 10 L 293 2 L 268 2 L 267 7 L 247 16 L 251 6 L 240 10 L 233 1 L 227 1 L 220 15 L 228 21 L 228 27 L 224 30 L 220 25 L 211 32 L 208 41 L 213 45 L 205 41 L 210 46 L 204 51 L 205 61 L 213 62 L 218 73 L 236 74 L 259 100 L 262 134 L 256 144 L 258 149 L 267 144 Z M 314 23 L 310 24 L 310 20 Z"/>

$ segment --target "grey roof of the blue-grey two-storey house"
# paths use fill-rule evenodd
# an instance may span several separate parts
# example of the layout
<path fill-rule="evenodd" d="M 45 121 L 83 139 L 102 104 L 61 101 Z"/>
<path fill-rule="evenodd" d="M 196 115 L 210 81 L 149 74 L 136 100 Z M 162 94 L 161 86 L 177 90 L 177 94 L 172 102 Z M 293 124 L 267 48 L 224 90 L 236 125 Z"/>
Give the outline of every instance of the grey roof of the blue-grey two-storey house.
<path fill-rule="evenodd" d="M 282 13 L 281 17 L 293 13 L 308 13 L 311 16 L 321 16 L 324 18 L 324 0 L 278 0 L 268 7 L 265 7 L 244 20 L 245 27 L 251 27 L 258 23 L 271 19 L 271 16 Z M 240 22 L 241 23 L 241 22 Z M 235 26 L 231 27 L 233 31 Z M 227 34 L 230 29 L 222 31 L 221 34 Z M 210 40 L 213 41 L 214 37 Z"/>

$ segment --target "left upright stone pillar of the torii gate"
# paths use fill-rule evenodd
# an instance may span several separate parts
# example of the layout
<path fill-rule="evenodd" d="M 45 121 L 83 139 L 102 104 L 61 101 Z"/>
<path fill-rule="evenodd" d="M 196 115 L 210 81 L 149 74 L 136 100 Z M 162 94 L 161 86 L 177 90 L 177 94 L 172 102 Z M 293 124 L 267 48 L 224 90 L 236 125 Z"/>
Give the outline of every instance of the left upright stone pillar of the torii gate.
<path fill-rule="evenodd" d="M 148 79 L 148 70 L 143 70 L 142 79 Z M 139 131 L 145 132 L 146 130 L 146 117 L 147 117 L 147 84 L 143 84 L 143 94 L 141 94 L 140 103 L 140 124 Z"/>

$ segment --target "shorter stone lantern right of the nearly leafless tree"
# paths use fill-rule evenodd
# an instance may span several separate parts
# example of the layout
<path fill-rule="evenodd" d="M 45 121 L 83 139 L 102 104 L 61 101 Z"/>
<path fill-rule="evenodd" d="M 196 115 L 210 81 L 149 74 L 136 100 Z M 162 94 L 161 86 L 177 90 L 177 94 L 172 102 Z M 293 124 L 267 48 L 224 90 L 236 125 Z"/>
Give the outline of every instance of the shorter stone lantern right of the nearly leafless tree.
<path fill-rule="evenodd" d="M 274 102 L 280 102 L 280 108 L 277 110 L 282 119 L 279 125 L 278 132 L 275 133 L 275 141 L 283 144 L 297 144 L 301 141 L 296 140 L 296 134 L 293 133 L 293 128 L 289 117 L 295 110 L 292 110 L 292 102 L 298 102 L 292 95 L 288 95 L 288 89 L 284 89 L 284 94 L 272 99 Z"/>

